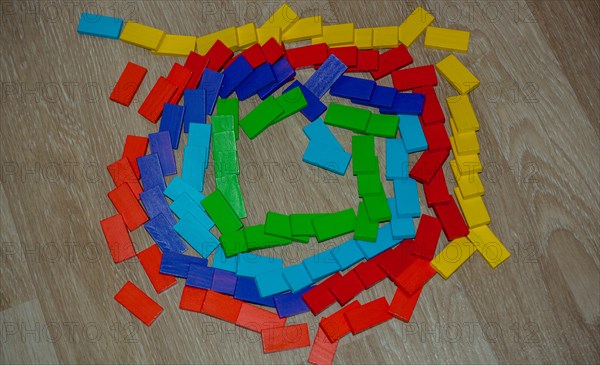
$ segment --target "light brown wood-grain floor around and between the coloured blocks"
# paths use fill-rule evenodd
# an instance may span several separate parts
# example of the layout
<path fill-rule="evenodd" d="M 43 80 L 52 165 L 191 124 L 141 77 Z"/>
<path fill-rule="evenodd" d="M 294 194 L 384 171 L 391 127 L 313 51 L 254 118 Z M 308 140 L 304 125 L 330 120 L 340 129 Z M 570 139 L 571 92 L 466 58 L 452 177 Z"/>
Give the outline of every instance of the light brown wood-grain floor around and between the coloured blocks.
<path fill-rule="evenodd" d="M 1 5 L 0 362 L 305 362 L 309 348 L 264 355 L 257 334 L 180 311 L 182 283 L 156 295 L 139 263 L 112 263 L 98 223 L 113 214 L 105 166 L 120 157 L 126 134 L 156 131 L 137 114 L 140 98 L 182 59 L 76 33 L 82 10 L 201 35 L 262 23 L 279 3 Z M 422 5 L 436 16 L 436 25 L 471 31 L 469 53 L 459 57 L 481 80 L 472 100 L 481 124 L 485 202 L 492 229 L 513 254 L 496 270 L 475 255 L 450 280 L 435 277 L 410 324 L 392 320 L 344 338 L 336 363 L 600 362 L 598 3 L 292 5 L 302 16 L 319 14 L 328 23 L 358 27 L 399 24 Z M 420 38 L 410 48 L 415 65 L 447 54 L 424 50 L 422 43 Z M 130 108 L 108 100 L 127 61 L 149 69 Z M 298 78 L 308 75 L 303 71 Z M 445 81 L 439 89 L 442 97 L 453 93 Z M 244 103 L 242 115 L 256 104 L 256 99 Z M 261 223 L 267 210 L 356 206 L 354 178 L 301 162 L 304 124 L 294 116 L 253 142 L 240 139 L 248 224 Z M 345 132 L 335 130 L 350 148 Z M 383 156 L 382 145 L 377 147 Z M 180 163 L 181 149 L 177 159 Z M 214 189 L 213 180 L 208 178 L 207 191 Z M 142 229 L 133 238 L 138 250 L 151 244 Z M 282 255 L 291 264 L 329 244 L 296 244 L 265 254 Z M 112 299 L 127 279 L 165 307 L 150 328 Z M 392 293 L 393 285 L 384 282 L 359 299 L 390 299 Z M 310 314 L 292 322 L 308 322 L 311 334 L 316 331 Z"/>

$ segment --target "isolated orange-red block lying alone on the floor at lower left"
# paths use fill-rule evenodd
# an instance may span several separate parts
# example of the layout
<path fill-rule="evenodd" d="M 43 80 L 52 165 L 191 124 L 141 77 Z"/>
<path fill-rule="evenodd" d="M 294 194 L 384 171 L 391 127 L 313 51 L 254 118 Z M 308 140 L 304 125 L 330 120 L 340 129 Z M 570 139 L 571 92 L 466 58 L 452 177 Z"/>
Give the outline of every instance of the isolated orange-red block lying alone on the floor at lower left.
<path fill-rule="evenodd" d="M 150 326 L 163 310 L 158 303 L 131 281 L 127 281 L 121 290 L 115 294 L 115 300 L 146 326 Z"/>

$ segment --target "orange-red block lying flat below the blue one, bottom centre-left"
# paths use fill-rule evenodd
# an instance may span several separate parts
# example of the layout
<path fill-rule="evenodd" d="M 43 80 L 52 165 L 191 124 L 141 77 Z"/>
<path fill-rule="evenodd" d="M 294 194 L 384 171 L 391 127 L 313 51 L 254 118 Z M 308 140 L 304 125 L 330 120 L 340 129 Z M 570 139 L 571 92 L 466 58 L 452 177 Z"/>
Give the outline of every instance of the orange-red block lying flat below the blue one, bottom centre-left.
<path fill-rule="evenodd" d="M 310 346 L 306 323 L 269 328 L 263 330 L 261 336 L 265 354 Z"/>

